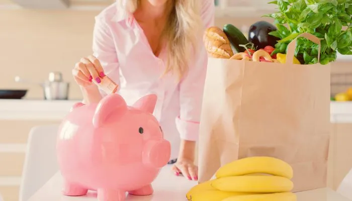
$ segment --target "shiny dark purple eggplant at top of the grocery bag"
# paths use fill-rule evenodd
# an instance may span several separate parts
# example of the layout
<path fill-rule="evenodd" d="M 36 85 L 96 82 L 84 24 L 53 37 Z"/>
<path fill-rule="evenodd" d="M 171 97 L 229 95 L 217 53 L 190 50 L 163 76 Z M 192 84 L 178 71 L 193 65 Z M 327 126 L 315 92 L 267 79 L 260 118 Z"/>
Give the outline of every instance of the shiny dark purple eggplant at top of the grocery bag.
<path fill-rule="evenodd" d="M 248 42 L 253 43 L 257 49 L 264 49 L 266 46 L 275 47 L 279 40 L 278 37 L 269 35 L 270 32 L 276 31 L 277 28 L 266 21 L 259 21 L 252 24 L 248 32 Z"/>

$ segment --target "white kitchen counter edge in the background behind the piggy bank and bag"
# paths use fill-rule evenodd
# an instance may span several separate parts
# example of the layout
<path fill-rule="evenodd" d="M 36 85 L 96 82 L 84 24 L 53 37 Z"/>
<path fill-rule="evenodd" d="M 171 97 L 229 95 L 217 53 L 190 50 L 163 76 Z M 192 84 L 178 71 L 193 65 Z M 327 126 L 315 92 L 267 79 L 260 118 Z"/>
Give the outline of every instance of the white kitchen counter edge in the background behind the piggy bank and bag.
<path fill-rule="evenodd" d="M 81 100 L 0 99 L 0 120 L 61 120 Z M 331 102 L 331 123 L 352 123 L 352 102 Z"/>

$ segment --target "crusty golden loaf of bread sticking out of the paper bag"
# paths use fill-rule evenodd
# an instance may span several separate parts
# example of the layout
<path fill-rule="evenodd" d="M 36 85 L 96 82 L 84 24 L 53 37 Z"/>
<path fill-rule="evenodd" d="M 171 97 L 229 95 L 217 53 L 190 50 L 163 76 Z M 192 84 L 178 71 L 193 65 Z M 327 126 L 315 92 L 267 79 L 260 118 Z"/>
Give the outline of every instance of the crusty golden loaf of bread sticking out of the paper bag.
<path fill-rule="evenodd" d="M 203 41 L 210 57 L 229 59 L 233 56 L 230 41 L 219 27 L 208 28 Z"/>

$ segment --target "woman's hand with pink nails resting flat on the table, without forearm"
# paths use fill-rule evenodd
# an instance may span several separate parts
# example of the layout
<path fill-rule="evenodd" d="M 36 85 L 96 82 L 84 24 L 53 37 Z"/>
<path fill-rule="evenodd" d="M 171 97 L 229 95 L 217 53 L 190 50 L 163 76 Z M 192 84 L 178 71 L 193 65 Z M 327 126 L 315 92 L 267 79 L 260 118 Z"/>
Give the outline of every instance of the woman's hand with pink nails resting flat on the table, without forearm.
<path fill-rule="evenodd" d="M 172 171 L 176 176 L 183 174 L 189 180 L 198 180 L 198 166 L 191 159 L 178 158 L 172 166 Z"/>

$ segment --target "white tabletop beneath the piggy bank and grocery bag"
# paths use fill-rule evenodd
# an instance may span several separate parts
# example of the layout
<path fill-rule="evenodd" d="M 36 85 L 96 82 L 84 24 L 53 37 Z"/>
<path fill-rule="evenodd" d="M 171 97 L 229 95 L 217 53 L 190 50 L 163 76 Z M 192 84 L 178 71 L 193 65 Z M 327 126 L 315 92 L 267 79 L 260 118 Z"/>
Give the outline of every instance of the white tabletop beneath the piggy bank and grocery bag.
<path fill-rule="evenodd" d="M 196 181 L 189 181 L 181 176 L 174 176 L 170 170 L 170 166 L 167 165 L 161 170 L 156 180 L 152 183 L 154 188 L 152 195 L 128 195 L 126 201 L 186 201 L 187 191 L 196 184 Z M 72 197 L 62 195 L 61 188 L 62 177 L 58 172 L 28 201 L 97 201 L 97 194 L 95 192 L 89 192 L 84 196 Z M 297 201 L 351 201 L 329 188 L 303 191 L 296 194 Z"/>

